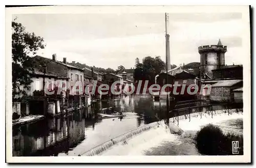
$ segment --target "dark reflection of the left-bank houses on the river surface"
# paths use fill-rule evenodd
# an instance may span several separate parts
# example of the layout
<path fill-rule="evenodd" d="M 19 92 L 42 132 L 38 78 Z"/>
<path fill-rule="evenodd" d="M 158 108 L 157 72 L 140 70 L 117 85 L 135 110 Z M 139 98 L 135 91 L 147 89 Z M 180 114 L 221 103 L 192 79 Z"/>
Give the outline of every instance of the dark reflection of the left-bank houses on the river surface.
<path fill-rule="evenodd" d="M 57 156 L 85 139 L 81 111 L 13 129 L 13 156 Z"/>

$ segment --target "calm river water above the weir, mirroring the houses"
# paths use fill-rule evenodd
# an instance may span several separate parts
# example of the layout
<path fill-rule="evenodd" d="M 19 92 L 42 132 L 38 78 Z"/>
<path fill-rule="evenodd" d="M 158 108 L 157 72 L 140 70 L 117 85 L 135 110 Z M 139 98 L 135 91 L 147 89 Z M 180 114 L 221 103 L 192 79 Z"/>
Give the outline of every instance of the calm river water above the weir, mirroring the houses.
<path fill-rule="evenodd" d="M 125 116 L 98 119 L 102 108 Z M 219 107 L 218 107 L 219 108 Z M 165 118 L 166 102 L 151 97 L 117 96 L 72 115 L 13 128 L 13 156 L 77 156 L 139 126 Z"/>

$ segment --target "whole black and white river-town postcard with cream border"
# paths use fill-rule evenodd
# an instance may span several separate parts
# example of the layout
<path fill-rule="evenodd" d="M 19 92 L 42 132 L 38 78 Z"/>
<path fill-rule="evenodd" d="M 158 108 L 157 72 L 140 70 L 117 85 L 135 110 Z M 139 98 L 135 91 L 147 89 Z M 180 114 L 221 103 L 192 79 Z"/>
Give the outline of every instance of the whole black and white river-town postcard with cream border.
<path fill-rule="evenodd" d="M 6 161 L 250 162 L 249 13 L 6 8 Z"/>

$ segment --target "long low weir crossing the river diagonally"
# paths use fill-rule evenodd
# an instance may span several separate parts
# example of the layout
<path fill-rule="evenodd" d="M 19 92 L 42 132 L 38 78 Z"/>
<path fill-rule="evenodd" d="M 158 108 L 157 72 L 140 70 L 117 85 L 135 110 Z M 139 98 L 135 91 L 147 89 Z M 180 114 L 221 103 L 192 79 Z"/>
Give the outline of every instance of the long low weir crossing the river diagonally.
<path fill-rule="evenodd" d="M 208 123 L 218 123 L 220 120 L 228 120 L 228 119 L 232 118 L 231 117 L 232 114 L 240 115 L 240 114 L 242 114 L 242 110 L 243 109 L 223 109 L 223 110 L 216 110 L 216 111 L 204 111 L 201 113 L 198 112 L 198 113 L 191 114 L 190 122 L 188 122 L 188 120 L 185 116 L 179 116 L 179 120 L 181 122 L 180 123 L 181 125 L 179 127 L 176 126 L 177 123 L 173 123 L 172 118 L 170 118 L 169 127 L 167 127 L 163 121 L 150 123 L 150 124 L 138 127 L 136 129 L 133 129 L 133 130 L 126 132 L 122 135 L 119 135 L 119 136 L 111 139 L 110 141 L 107 141 L 103 144 L 100 144 L 100 145 L 84 152 L 81 155 L 83 155 L 83 156 L 100 155 L 101 153 L 107 152 L 107 150 L 109 151 L 110 148 L 112 148 L 116 145 L 120 145 L 121 143 L 122 143 L 121 145 L 125 145 L 125 144 L 127 144 L 127 142 L 130 143 L 132 141 L 132 139 L 137 138 L 138 136 L 143 136 L 143 138 L 140 137 L 140 139 L 142 139 L 142 140 L 144 138 L 146 138 L 146 139 L 148 139 L 148 141 L 151 141 L 151 136 L 153 134 L 156 136 L 160 136 L 156 131 L 163 132 L 162 129 L 158 129 L 159 127 L 164 128 L 164 130 L 166 130 L 168 132 L 168 133 L 166 132 L 164 134 L 161 134 L 161 137 L 157 137 L 157 139 L 154 140 L 154 143 L 157 143 L 157 142 L 161 143 L 161 141 L 163 140 L 163 137 L 165 137 L 165 136 L 167 136 L 168 137 L 167 139 L 169 139 L 170 137 L 172 137 L 172 136 L 170 136 L 171 134 L 173 134 L 173 136 L 174 136 L 174 134 L 178 134 L 178 135 L 181 135 L 184 133 L 186 134 L 187 130 L 195 130 L 196 131 L 200 128 L 201 125 L 205 125 Z M 214 118 L 212 118 L 213 116 L 214 116 Z M 157 129 L 154 129 L 154 128 L 157 128 Z M 147 131 L 150 131 L 150 132 L 147 133 Z M 148 137 L 148 134 L 150 134 L 151 136 Z M 170 138 L 169 140 L 172 141 L 171 139 L 172 138 Z M 143 143 L 146 143 L 146 141 L 147 140 L 144 139 Z M 155 142 L 155 141 L 157 141 L 157 142 Z M 137 141 L 132 141 L 132 142 L 133 143 L 130 144 L 129 146 L 135 145 L 134 143 L 136 143 Z M 152 143 L 153 142 L 150 142 L 150 144 L 152 144 Z M 127 147 L 129 147 L 129 146 L 127 146 Z M 125 147 L 118 147 L 118 148 L 122 149 Z"/>

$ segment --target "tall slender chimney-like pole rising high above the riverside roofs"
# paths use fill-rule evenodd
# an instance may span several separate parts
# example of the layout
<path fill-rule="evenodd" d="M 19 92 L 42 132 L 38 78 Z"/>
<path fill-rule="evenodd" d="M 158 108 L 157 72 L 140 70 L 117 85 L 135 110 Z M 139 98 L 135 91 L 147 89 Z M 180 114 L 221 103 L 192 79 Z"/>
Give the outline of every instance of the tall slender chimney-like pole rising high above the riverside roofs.
<path fill-rule="evenodd" d="M 168 54 L 167 50 L 168 47 L 168 37 L 167 37 L 167 13 L 165 13 L 165 55 L 166 55 L 166 84 L 168 83 Z M 168 90 L 167 90 L 168 91 Z M 169 100 L 168 100 L 168 94 L 166 94 L 166 124 L 169 125 Z"/>

